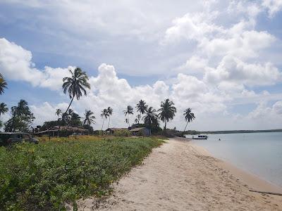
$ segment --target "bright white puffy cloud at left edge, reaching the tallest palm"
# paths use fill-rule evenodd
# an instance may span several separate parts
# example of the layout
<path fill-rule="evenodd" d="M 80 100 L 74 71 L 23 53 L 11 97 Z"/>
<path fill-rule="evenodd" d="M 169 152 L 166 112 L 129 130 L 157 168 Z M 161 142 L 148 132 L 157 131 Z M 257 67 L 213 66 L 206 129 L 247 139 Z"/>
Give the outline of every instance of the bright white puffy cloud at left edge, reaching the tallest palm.
<path fill-rule="evenodd" d="M 0 69 L 7 78 L 15 81 L 25 81 L 34 87 L 45 87 L 51 90 L 61 88 L 62 78 L 68 75 L 68 68 L 50 68 L 46 66 L 44 70 L 35 68 L 32 63 L 32 53 L 23 49 L 22 46 L 0 39 Z"/>

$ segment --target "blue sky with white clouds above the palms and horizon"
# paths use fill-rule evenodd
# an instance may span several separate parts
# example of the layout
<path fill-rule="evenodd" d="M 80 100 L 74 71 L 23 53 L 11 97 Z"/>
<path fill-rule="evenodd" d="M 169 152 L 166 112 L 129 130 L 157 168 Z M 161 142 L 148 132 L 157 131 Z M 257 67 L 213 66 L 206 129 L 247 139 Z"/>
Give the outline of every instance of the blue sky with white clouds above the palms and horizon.
<path fill-rule="evenodd" d="M 126 127 L 126 106 L 166 98 L 170 128 L 184 129 L 186 108 L 188 129 L 282 128 L 281 11 L 282 0 L 0 0 L 0 101 L 25 99 L 35 125 L 56 120 L 70 102 L 62 79 L 80 67 L 91 89 L 71 107 L 92 110 L 94 129 L 103 108 Z"/>

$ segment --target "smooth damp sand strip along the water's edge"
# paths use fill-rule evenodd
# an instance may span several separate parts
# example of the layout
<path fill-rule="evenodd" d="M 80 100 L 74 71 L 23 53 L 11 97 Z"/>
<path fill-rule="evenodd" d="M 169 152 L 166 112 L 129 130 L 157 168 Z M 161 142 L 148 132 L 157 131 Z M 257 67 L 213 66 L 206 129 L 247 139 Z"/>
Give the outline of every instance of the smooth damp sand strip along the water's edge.
<path fill-rule="evenodd" d="M 189 138 L 185 138 L 189 139 Z M 191 141 L 187 140 L 187 141 Z M 210 153 L 207 148 L 204 148 L 203 146 L 197 145 L 197 143 L 190 142 L 191 145 L 193 145 L 195 148 L 197 148 L 197 151 L 200 151 L 200 153 L 203 153 L 204 155 L 212 156 L 213 158 L 216 158 L 215 155 Z M 223 169 L 230 171 L 235 177 L 240 179 L 240 181 L 243 181 L 252 191 L 264 191 L 264 192 L 273 192 L 273 193 L 281 193 L 282 194 L 282 187 L 278 186 L 276 184 L 271 183 L 270 181 L 267 181 L 258 175 L 252 174 L 251 172 L 248 172 L 247 170 L 243 170 L 240 167 L 236 167 L 233 165 L 233 163 L 228 162 L 226 160 L 222 160 L 221 158 L 216 158 L 220 161 L 220 165 Z"/>

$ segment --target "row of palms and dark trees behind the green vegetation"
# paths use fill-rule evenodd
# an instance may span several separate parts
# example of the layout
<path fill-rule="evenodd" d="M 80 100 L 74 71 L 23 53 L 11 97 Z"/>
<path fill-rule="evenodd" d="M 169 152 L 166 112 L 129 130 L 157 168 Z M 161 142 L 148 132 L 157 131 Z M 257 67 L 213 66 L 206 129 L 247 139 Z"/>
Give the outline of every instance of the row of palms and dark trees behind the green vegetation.
<path fill-rule="evenodd" d="M 57 116 L 56 121 L 44 122 L 42 129 L 48 129 L 55 125 L 59 126 L 71 126 L 71 127 L 84 127 L 85 129 L 92 129 L 91 124 L 95 124 L 96 117 L 92 110 L 85 110 L 84 117 L 80 117 L 71 109 L 71 104 L 74 98 L 78 101 L 81 96 L 87 96 L 87 89 L 91 89 L 89 78 L 86 72 L 82 71 L 80 68 L 75 68 L 75 70 L 68 70 L 71 77 L 63 78 L 63 93 L 68 94 L 71 99 L 68 104 L 68 108 L 63 112 L 60 108 L 56 109 L 55 115 Z M 4 94 L 5 89 L 7 89 L 7 83 L 4 77 L 0 74 L 0 94 Z M 164 122 L 164 131 L 166 131 L 166 124 L 173 120 L 176 115 L 176 107 L 173 101 L 166 98 L 161 102 L 160 108 L 156 110 L 152 106 L 148 106 L 143 100 L 140 100 L 135 106 L 137 115 L 135 117 L 134 123 L 130 124 L 130 115 L 134 114 L 133 107 L 127 106 L 123 113 L 125 115 L 125 123 L 130 125 L 141 125 L 140 121 L 143 121 L 145 127 L 149 129 L 157 130 L 159 129 L 159 121 Z M 5 103 L 0 103 L 0 116 L 8 112 L 8 108 Z M 111 115 L 113 115 L 114 110 L 111 107 L 104 108 L 100 114 L 102 117 L 102 131 L 104 129 L 104 121 L 109 118 L 107 122 L 107 127 L 110 126 Z M 195 119 L 195 114 L 192 113 L 191 108 L 187 108 L 183 113 L 185 117 L 185 129 L 188 126 L 188 122 L 192 122 Z M 31 124 L 35 120 L 33 113 L 30 111 L 28 104 L 24 100 L 20 100 L 18 106 L 13 106 L 11 108 L 11 118 L 4 124 L 4 130 L 6 132 L 25 131 L 31 127 Z M 3 122 L 0 121 L 0 127 L 3 127 Z M 184 131 L 185 131 L 184 129 Z"/>

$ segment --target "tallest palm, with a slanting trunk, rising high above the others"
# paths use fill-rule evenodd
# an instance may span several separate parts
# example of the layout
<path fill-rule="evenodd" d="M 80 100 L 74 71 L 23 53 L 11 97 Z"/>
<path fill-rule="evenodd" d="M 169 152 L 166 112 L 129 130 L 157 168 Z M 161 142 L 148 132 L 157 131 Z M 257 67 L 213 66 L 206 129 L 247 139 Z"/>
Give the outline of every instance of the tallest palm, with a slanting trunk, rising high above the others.
<path fill-rule="evenodd" d="M 63 93 L 66 94 L 68 91 L 68 95 L 71 98 L 71 103 L 73 103 L 73 98 L 79 98 L 82 96 L 82 92 L 85 96 L 87 96 L 86 89 L 90 89 L 90 84 L 88 83 L 88 77 L 86 72 L 83 72 L 80 68 L 75 68 L 74 71 L 68 70 L 71 73 L 71 77 L 63 78 Z M 71 107 L 68 105 L 68 108 Z M 68 108 L 66 112 L 68 112 Z"/>

